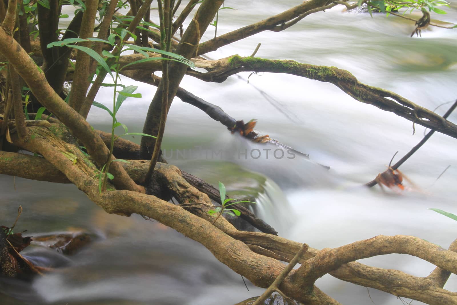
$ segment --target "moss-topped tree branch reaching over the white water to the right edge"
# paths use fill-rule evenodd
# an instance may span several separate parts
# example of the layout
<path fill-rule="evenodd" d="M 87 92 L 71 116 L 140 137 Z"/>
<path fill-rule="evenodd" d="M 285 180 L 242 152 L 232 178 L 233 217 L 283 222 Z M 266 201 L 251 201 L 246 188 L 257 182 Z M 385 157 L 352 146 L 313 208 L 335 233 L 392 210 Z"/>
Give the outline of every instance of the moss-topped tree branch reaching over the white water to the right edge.
<path fill-rule="evenodd" d="M 420 107 L 398 94 L 381 88 L 365 85 L 354 75 L 336 67 L 301 64 L 293 60 L 271 60 L 234 55 L 225 59 L 201 61 L 197 67 L 209 72 L 189 71 L 189 75 L 205 81 L 222 82 L 228 76 L 242 71 L 287 73 L 306 77 L 311 80 L 329 82 L 359 102 L 371 104 L 382 110 L 390 111 L 413 123 L 434 129 L 442 134 L 457 138 L 457 125 L 436 113 Z"/>

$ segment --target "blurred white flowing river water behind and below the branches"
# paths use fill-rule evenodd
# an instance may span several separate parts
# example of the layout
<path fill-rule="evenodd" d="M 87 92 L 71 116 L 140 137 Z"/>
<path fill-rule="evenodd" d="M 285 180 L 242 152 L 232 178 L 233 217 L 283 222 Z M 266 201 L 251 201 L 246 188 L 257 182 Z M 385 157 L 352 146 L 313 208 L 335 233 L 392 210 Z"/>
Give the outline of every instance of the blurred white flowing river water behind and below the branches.
<path fill-rule="evenodd" d="M 299 3 L 228 0 L 225 5 L 235 10 L 219 12 L 218 35 Z M 312 14 L 286 31 L 262 32 L 208 56 L 249 56 L 261 43 L 256 56 L 336 66 L 363 83 L 431 110 L 455 101 L 455 30 L 430 27 L 422 31 L 422 37 L 410 38 L 413 21 L 376 14 L 371 18 L 343 12 L 343 8 Z M 432 14 L 432 18 L 457 23 L 456 2 L 445 9 L 448 14 Z M 211 38 L 213 31 L 211 27 L 205 38 Z M 135 84 L 125 78 L 123 83 Z M 142 130 L 155 91 L 155 87 L 138 86 L 143 97 L 128 99 L 118 115 L 129 131 Z M 272 151 L 267 157 L 264 146 L 230 134 L 199 109 L 178 98 L 172 104 L 163 144 L 168 161 L 214 185 L 223 182 L 228 193 L 254 195 L 260 216 L 280 235 L 315 248 L 342 246 L 380 234 L 414 235 L 447 248 L 457 237 L 457 222 L 428 210 L 457 214 L 456 139 L 434 134 L 401 166 L 411 181 L 404 182 L 406 190 L 383 193 L 378 186 L 362 185 L 385 171 L 396 151 L 394 161 L 417 144 L 423 127 L 416 124 L 413 134 L 413 124 L 406 119 L 357 102 L 331 84 L 285 74 L 241 73 L 223 84 L 186 76 L 182 87 L 238 120 L 257 119 L 260 134 L 310 155 L 311 161 L 276 159 Z M 111 94 L 110 88 L 103 89 L 96 100 L 109 106 Z M 442 115 L 450 105 L 436 112 Z M 88 120 L 95 128 L 109 130 L 110 117 L 101 109 L 92 109 Z M 457 114 L 449 120 L 456 122 Z M 58 261 L 64 268 L 32 283 L 1 279 L 2 304 L 230 305 L 263 290 L 247 283 L 247 291 L 238 274 L 196 242 L 138 215 L 106 214 L 72 185 L 20 178 L 14 183 L 13 177 L 0 176 L 0 191 L 1 225 L 11 225 L 22 205 L 18 230 L 27 229 L 25 235 L 81 229 L 98 236 L 68 258 L 29 247 L 25 254 L 44 262 Z M 426 276 L 434 268 L 399 254 L 360 262 L 415 276 Z M 393 295 L 329 275 L 316 285 L 342 304 L 402 304 Z M 455 275 L 445 288 L 456 291 Z"/>

